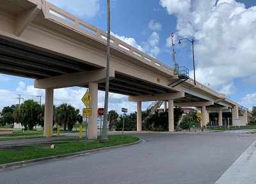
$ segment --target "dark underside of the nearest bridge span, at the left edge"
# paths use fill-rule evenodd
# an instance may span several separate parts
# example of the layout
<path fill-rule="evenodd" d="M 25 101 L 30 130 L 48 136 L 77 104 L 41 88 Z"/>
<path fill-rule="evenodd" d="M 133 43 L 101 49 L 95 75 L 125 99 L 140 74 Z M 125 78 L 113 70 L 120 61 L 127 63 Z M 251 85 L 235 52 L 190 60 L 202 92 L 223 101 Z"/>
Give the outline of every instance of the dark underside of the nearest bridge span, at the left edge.
<path fill-rule="evenodd" d="M 3 39 L 0 39 L 0 64 L 1 73 L 31 79 L 98 69 L 86 63 Z"/>

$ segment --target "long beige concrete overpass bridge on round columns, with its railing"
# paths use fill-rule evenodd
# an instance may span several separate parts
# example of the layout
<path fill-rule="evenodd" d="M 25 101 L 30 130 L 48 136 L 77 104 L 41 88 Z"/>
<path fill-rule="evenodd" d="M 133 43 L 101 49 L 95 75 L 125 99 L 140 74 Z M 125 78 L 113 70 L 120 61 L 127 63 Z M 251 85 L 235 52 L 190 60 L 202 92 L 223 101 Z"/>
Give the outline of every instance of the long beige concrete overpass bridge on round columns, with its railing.
<path fill-rule="evenodd" d="M 105 90 L 107 33 L 44 0 L 0 0 L 0 25 L 0 73 L 35 79 L 35 88 L 45 89 L 44 135 L 52 125 L 54 89 L 79 86 L 92 95 L 88 138 L 95 139 L 97 91 Z M 154 100 L 162 100 L 165 109 L 168 102 L 170 132 L 175 106 L 200 108 L 203 126 L 209 112 L 218 112 L 219 125 L 226 112 L 232 113 L 233 122 L 248 122 L 247 110 L 224 94 L 194 85 L 190 78 L 168 86 L 178 79 L 173 68 L 113 36 L 110 45 L 109 91 L 137 102 L 138 131 L 141 102 Z"/>

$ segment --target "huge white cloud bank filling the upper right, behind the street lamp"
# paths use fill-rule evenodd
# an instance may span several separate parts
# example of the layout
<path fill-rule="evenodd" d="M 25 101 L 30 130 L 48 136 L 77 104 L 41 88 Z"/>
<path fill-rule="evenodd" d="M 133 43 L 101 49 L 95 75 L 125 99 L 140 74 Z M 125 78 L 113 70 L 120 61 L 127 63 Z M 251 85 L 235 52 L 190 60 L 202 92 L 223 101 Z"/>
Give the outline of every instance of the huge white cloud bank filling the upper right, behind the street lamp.
<path fill-rule="evenodd" d="M 197 81 L 219 88 L 237 78 L 255 84 L 256 6 L 246 9 L 235 0 L 161 0 L 160 4 L 176 15 L 177 36 L 195 39 Z M 166 46 L 171 46 L 170 38 Z"/>

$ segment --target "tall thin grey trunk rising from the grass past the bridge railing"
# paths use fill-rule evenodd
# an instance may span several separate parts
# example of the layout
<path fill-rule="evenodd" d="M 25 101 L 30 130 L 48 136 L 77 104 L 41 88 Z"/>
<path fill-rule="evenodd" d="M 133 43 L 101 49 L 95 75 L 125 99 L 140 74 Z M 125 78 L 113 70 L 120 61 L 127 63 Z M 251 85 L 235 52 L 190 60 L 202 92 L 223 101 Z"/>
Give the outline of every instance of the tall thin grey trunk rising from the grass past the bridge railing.
<path fill-rule="evenodd" d="M 102 134 L 100 142 L 108 142 L 108 91 L 109 91 L 109 44 L 110 44 L 110 6 L 108 6 L 108 34 L 107 34 L 107 66 L 106 66 L 106 89 L 105 89 L 105 103 L 104 103 L 104 121 L 102 127 Z"/>

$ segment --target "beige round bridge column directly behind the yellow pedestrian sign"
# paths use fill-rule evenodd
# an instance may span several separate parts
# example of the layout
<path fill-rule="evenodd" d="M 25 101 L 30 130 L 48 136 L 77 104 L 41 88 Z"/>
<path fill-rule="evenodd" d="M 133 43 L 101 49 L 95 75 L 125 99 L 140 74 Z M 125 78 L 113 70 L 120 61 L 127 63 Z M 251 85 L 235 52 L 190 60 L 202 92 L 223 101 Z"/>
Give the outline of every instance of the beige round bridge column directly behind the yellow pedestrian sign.
<path fill-rule="evenodd" d="M 89 107 L 92 108 L 92 115 L 88 118 L 88 139 L 97 139 L 97 114 L 98 114 L 98 84 L 89 82 L 89 93 L 92 101 Z"/>

